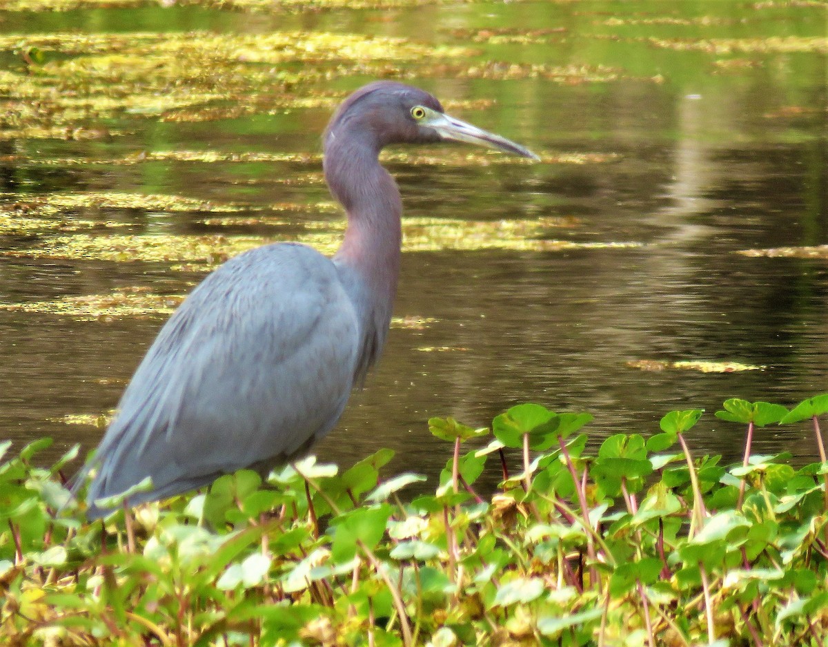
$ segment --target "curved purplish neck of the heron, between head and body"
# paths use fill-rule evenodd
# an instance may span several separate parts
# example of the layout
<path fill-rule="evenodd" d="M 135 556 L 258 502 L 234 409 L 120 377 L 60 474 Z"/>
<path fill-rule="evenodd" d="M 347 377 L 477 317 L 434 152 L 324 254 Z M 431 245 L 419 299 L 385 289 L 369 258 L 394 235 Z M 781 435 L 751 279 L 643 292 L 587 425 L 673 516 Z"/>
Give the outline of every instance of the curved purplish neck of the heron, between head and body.
<path fill-rule="evenodd" d="M 329 138 L 325 179 L 348 214 L 335 261 L 359 273 L 368 293 L 387 304 L 390 317 L 400 268 L 402 200 L 397 183 L 380 166 L 378 152 L 370 142 Z"/>

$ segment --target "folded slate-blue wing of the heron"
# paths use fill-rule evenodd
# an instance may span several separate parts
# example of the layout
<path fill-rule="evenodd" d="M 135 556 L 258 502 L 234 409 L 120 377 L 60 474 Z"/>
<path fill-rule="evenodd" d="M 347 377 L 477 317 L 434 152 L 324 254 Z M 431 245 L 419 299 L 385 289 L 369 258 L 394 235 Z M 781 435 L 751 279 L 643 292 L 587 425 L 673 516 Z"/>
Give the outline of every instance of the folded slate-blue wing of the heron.
<path fill-rule="evenodd" d="M 118 405 L 89 500 L 152 476 L 152 500 L 278 462 L 330 431 L 359 351 L 354 306 L 302 245 L 243 253 L 163 326 Z"/>

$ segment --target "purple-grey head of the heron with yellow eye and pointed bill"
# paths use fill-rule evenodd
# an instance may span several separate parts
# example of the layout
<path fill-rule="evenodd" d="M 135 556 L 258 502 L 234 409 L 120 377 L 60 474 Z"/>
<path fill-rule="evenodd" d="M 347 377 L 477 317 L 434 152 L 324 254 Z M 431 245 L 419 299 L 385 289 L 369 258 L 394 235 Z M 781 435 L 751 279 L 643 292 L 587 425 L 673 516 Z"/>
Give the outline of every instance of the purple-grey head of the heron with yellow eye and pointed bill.
<path fill-rule="evenodd" d="M 395 81 L 365 85 L 344 100 L 325 131 L 325 148 L 342 139 L 367 142 L 377 152 L 393 143 L 455 140 L 538 159 L 520 144 L 450 117 L 425 90 Z"/>

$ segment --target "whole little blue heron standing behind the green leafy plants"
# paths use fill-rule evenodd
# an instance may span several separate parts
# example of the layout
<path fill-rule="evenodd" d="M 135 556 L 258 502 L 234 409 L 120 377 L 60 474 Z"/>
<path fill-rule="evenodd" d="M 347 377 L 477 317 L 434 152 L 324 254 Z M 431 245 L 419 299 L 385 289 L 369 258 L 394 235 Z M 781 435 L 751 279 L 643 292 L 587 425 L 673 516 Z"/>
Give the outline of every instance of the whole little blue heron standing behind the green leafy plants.
<path fill-rule="evenodd" d="M 378 162 L 388 144 L 457 140 L 537 156 L 445 114 L 421 89 L 378 81 L 351 94 L 324 138 L 325 180 L 348 217 L 333 258 L 279 243 L 231 258 L 171 316 L 78 482 L 95 500 L 152 477 L 129 505 L 267 472 L 334 427 L 378 360 L 397 291 L 402 201 Z"/>

